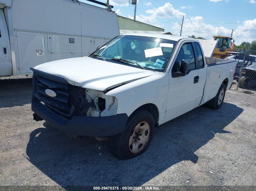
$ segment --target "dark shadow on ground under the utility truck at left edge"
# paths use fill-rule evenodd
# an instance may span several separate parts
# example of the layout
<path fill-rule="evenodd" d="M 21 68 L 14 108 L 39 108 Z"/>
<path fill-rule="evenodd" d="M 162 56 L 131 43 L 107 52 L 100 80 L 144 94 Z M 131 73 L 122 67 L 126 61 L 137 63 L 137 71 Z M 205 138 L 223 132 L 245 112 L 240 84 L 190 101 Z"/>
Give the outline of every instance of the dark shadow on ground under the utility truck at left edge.
<path fill-rule="evenodd" d="M 31 103 L 32 78 L 0 79 L 0 108 Z"/>

